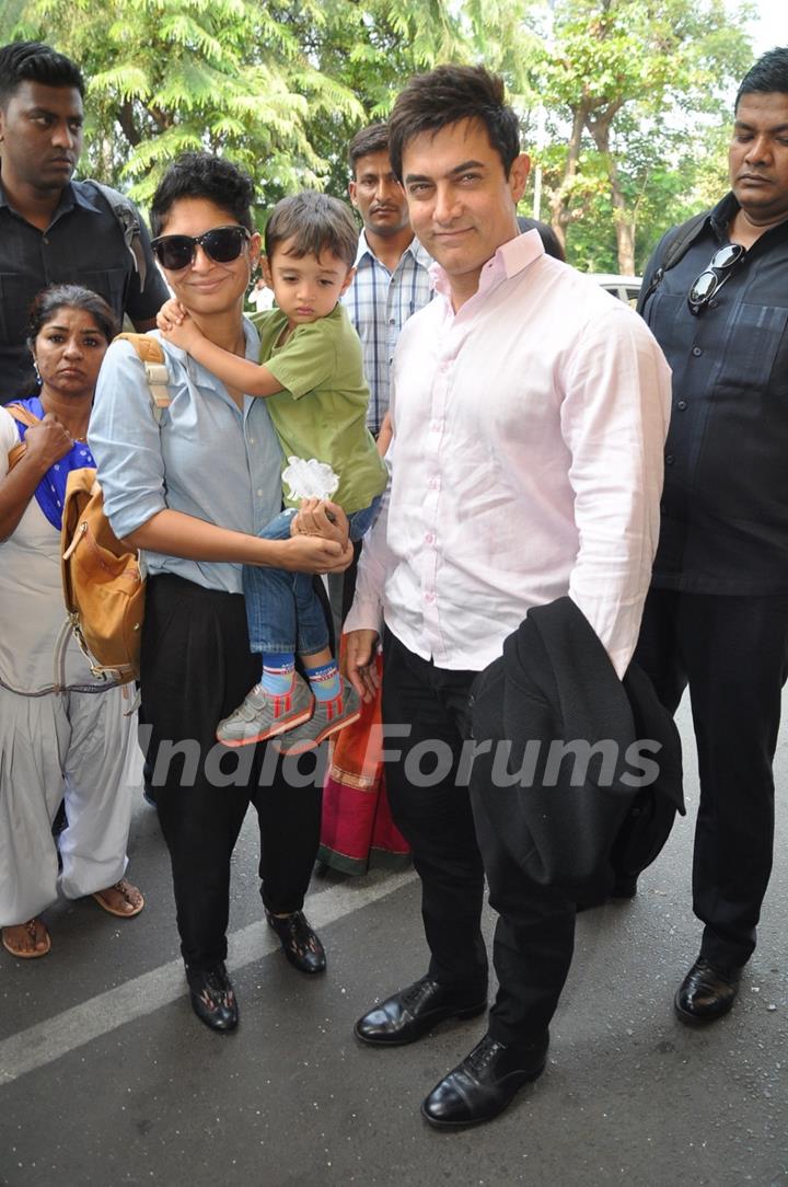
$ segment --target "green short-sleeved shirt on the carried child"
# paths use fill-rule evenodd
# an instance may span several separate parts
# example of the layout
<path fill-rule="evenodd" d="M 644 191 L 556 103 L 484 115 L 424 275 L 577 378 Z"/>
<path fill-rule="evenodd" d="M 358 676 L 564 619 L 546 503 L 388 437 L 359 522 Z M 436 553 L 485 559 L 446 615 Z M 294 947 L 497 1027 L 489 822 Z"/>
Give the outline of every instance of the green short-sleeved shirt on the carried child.
<path fill-rule="evenodd" d="M 287 325 L 279 309 L 252 318 L 260 334 L 260 362 L 284 391 L 266 399 L 287 458 L 316 457 L 339 475 L 331 497 L 348 513 L 369 507 L 386 489 L 387 470 L 367 429 L 369 388 L 361 342 L 343 305 L 328 317 L 299 325 L 284 345 Z M 287 499 L 285 504 L 298 506 Z"/>

